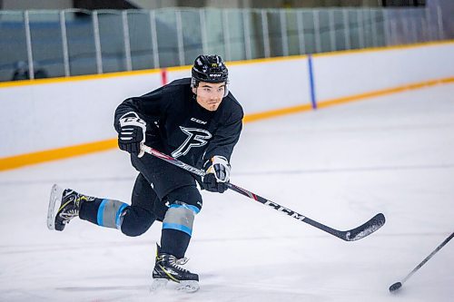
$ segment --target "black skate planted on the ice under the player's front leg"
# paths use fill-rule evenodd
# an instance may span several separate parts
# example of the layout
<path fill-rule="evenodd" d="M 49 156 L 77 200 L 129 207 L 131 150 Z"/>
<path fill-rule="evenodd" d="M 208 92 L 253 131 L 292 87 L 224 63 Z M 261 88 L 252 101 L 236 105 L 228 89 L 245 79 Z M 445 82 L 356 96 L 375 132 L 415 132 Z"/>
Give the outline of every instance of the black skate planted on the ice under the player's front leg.
<path fill-rule="evenodd" d="M 177 259 L 173 255 L 161 253 L 158 246 L 156 264 L 153 269 L 152 291 L 161 289 L 169 281 L 176 282 L 175 289 L 188 293 L 199 289 L 199 275 L 192 274 L 187 269 L 180 267 L 187 262 L 187 258 Z"/>

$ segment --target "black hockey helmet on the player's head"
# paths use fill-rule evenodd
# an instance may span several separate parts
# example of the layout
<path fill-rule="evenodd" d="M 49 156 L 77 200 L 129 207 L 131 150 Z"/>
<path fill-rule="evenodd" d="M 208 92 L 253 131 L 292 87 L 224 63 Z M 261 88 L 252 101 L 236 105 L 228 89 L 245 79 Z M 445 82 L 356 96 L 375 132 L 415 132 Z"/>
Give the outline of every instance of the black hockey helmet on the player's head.
<path fill-rule="evenodd" d="M 196 87 L 199 82 L 227 83 L 228 81 L 229 71 L 221 56 L 202 54 L 195 59 L 192 66 L 192 87 Z"/>

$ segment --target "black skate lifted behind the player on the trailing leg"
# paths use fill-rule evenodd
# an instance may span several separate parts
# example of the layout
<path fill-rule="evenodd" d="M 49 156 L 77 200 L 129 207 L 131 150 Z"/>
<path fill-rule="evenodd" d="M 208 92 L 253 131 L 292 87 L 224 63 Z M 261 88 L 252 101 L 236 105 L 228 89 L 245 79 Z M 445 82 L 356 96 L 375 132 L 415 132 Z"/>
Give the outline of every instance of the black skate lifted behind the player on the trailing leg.
<path fill-rule="evenodd" d="M 63 230 L 71 219 L 79 216 L 81 204 L 86 199 L 86 196 L 78 194 L 74 190 L 63 190 L 54 184 L 47 210 L 47 228 Z"/>

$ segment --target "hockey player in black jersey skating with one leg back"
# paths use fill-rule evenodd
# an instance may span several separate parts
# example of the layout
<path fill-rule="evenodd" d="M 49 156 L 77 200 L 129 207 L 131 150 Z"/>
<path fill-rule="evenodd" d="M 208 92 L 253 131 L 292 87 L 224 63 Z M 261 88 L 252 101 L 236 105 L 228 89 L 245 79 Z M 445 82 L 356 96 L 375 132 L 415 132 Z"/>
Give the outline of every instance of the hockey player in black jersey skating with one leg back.
<path fill-rule="evenodd" d="M 162 221 L 153 287 L 162 287 L 171 280 L 178 283 L 178 289 L 197 290 L 199 276 L 182 268 L 193 220 L 202 209 L 196 181 L 204 190 L 227 190 L 229 161 L 242 132 L 242 117 L 242 106 L 228 91 L 228 70 L 222 58 L 198 56 L 192 66 L 192 78 L 126 99 L 115 111 L 118 145 L 131 153 L 133 167 L 139 172 L 131 205 L 54 185 L 49 229 L 63 230 L 71 219 L 79 217 L 120 229 L 127 236 L 139 236 L 155 220 Z M 199 179 L 152 155 L 140 157 L 142 144 L 172 154 L 207 174 Z"/>

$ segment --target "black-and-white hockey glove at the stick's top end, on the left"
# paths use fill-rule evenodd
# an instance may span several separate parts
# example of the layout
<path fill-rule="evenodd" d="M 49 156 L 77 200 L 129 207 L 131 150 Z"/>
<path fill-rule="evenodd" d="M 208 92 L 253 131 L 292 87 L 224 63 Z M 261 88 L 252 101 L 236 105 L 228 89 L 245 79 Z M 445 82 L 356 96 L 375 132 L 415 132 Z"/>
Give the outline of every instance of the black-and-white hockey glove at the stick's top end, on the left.
<path fill-rule="evenodd" d="M 127 112 L 120 118 L 118 147 L 121 150 L 137 155 L 145 141 L 146 122 L 135 112 Z"/>

